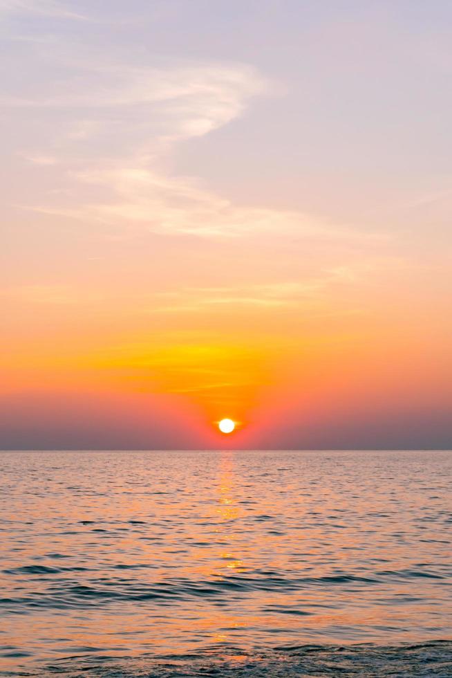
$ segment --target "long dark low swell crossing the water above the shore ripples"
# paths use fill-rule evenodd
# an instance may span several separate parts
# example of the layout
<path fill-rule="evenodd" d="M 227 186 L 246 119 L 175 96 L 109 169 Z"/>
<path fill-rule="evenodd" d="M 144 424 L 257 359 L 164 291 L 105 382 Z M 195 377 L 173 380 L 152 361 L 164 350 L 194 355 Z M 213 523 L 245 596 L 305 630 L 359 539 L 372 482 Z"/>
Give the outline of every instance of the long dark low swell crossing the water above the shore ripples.
<path fill-rule="evenodd" d="M 253 576 L 238 574 L 195 580 L 191 578 L 166 578 L 153 581 L 140 578 L 138 571 L 150 570 L 146 564 L 116 563 L 110 565 L 109 575 L 95 576 L 96 569 L 82 566 L 48 567 L 46 565 L 24 565 L 3 570 L 17 583 L 26 583 L 26 595 L 12 595 L 14 588 L 6 597 L 0 598 L 3 612 L 26 612 L 28 608 L 48 607 L 62 610 L 73 607 L 91 607 L 105 605 L 109 601 L 189 601 L 193 598 L 206 598 L 215 601 L 227 596 L 230 600 L 250 592 L 299 592 L 316 587 L 342 587 L 344 592 L 361 587 L 384 585 L 395 580 L 426 578 L 433 581 L 443 580 L 444 576 L 427 570 L 401 569 L 375 571 L 368 576 L 355 574 L 337 574 L 319 577 L 281 576 L 269 571 L 255 571 Z M 75 577 L 75 573 L 80 576 Z M 124 576 L 120 573 L 124 572 Z M 126 576 L 130 572 L 129 576 Z M 73 576 L 70 574 L 73 573 Z M 84 573 L 88 573 L 83 578 Z M 98 573 L 100 574 L 100 573 Z M 133 575 L 133 576 L 132 576 Z M 35 586 L 33 585 L 35 583 Z M 306 610 L 286 610 L 288 614 L 309 614 Z"/>

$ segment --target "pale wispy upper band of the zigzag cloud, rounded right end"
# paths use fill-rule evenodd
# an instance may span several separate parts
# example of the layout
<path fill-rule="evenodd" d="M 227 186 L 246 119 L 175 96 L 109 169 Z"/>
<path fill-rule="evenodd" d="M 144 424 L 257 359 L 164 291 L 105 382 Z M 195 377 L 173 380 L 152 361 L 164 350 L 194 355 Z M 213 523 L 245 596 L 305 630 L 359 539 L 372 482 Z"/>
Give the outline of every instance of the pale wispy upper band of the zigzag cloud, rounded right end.
<path fill-rule="evenodd" d="M 76 109 L 75 114 L 80 109 L 91 113 L 113 109 L 116 118 L 118 109 L 140 107 L 135 124 L 143 125 L 143 134 L 155 136 L 160 132 L 159 136 L 178 140 L 203 136 L 234 120 L 243 112 L 247 99 L 265 86 L 253 68 L 241 64 L 145 68 L 121 62 L 102 64 L 95 54 L 92 58 L 94 64 L 84 59 L 68 61 L 68 66 L 76 66 L 79 73 L 57 83 L 57 88 L 52 87 L 59 92 L 3 96 L 1 104 L 12 108 Z M 82 74 L 84 80 L 80 82 Z M 90 80 L 93 87 L 86 86 Z M 133 111 L 129 114 L 133 116 Z M 102 120 L 99 114 L 98 118 Z M 124 120 L 124 126 L 128 123 L 129 119 Z"/>

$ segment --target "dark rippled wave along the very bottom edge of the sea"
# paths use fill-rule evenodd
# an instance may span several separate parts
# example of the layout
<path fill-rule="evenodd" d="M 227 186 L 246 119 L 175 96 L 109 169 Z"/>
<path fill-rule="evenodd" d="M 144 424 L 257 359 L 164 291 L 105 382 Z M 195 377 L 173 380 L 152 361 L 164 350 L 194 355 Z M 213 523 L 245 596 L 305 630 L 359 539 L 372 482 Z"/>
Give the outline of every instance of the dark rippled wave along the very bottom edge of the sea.
<path fill-rule="evenodd" d="M 54 661 L 39 675 L 70 675 L 72 678 L 86 675 L 109 678 L 188 678 L 201 675 L 222 678 L 338 675 L 344 678 L 381 678 L 386 675 L 450 678 L 452 675 L 452 643 L 449 641 L 397 647 L 289 645 L 253 652 L 217 645 L 196 654 L 168 654 L 155 658 L 144 655 L 130 659 L 112 659 L 91 650 L 89 653 L 85 650 L 85 656 L 77 654 Z M 36 673 L 21 672 L 21 675 Z"/>

